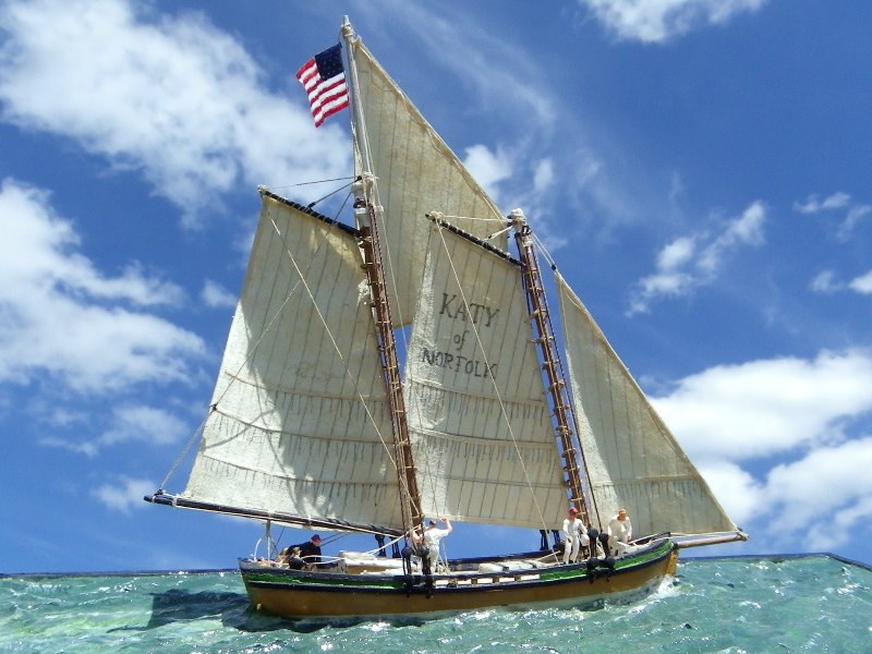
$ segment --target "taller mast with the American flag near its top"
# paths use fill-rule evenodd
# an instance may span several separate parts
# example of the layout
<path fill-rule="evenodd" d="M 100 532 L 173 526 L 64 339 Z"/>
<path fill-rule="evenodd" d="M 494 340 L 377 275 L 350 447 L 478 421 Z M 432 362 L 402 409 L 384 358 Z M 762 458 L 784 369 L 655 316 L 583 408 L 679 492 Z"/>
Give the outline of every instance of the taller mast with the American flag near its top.
<path fill-rule="evenodd" d="M 409 423 L 405 412 L 405 400 L 402 392 L 402 379 L 397 359 L 397 341 L 393 336 L 393 323 L 390 316 L 385 268 L 382 258 L 379 239 L 379 221 L 382 206 L 377 199 L 375 175 L 372 172 L 368 145 L 366 143 L 366 125 L 360 105 L 358 69 L 352 57 L 354 31 L 346 16 L 342 23 L 342 38 L 346 41 L 349 92 L 351 97 L 351 131 L 354 143 L 360 150 L 363 174 L 354 184 L 354 219 L 361 231 L 359 245 L 364 256 L 364 269 L 372 296 L 373 317 L 378 331 L 378 354 L 387 388 L 388 409 L 390 411 L 391 436 L 393 438 L 393 462 L 397 468 L 397 481 L 400 487 L 403 529 L 409 533 L 412 528 L 420 526 L 423 533 L 424 516 L 421 510 L 421 495 L 417 488 L 414 458 L 409 439 Z"/>

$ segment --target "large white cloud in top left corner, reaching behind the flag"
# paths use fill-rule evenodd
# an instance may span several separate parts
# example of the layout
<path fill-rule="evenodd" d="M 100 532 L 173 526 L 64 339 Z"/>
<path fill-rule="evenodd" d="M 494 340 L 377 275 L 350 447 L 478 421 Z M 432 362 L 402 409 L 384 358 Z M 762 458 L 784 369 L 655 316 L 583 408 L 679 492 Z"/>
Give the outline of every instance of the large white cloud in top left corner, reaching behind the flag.
<path fill-rule="evenodd" d="M 280 185 L 350 170 L 342 133 L 315 131 L 302 92 L 292 104 L 262 88 L 242 45 L 203 15 L 153 19 L 146 7 L 0 5 L 3 119 L 141 171 L 189 222 L 210 194 L 240 183 Z"/>

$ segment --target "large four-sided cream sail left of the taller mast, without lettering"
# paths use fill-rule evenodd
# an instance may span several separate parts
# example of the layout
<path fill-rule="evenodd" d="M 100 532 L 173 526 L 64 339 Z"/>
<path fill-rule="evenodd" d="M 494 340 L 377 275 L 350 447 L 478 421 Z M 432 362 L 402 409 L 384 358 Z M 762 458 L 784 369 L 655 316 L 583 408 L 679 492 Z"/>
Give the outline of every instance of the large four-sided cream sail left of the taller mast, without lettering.
<path fill-rule="evenodd" d="M 402 525 L 367 298 L 348 228 L 265 193 L 182 497 Z"/>

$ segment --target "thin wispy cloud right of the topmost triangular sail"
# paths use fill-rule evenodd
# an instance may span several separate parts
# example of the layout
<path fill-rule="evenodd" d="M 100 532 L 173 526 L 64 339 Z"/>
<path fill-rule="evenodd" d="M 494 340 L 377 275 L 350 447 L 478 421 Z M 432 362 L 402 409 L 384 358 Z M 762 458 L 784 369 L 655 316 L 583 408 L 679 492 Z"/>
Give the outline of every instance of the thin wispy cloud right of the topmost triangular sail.
<path fill-rule="evenodd" d="M 578 117 L 548 84 L 544 63 L 524 48 L 497 34 L 491 24 L 446 17 L 425 5 L 388 2 L 395 21 L 416 37 L 434 62 L 450 72 L 473 98 L 452 111 L 486 114 L 497 125 L 493 141 L 463 145 L 464 165 L 506 213 L 522 207 L 538 235 L 552 246 L 562 239 L 550 235 L 555 189 L 577 190 L 579 184 L 602 184 L 592 177 L 579 179 L 579 154 L 585 130 Z M 507 104 L 505 98 L 510 97 Z M 425 117 L 428 108 L 421 107 Z M 436 125 L 438 129 L 438 125 Z M 566 134 L 572 138 L 567 140 Z M 570 143 L 571 142 L 571 143 Z M 561 161 L 562 165 L 556 164 Z M 588 169 L 584 172 L 589 172 Z M 574 177 L 573 177 L 574 175 Z"/>

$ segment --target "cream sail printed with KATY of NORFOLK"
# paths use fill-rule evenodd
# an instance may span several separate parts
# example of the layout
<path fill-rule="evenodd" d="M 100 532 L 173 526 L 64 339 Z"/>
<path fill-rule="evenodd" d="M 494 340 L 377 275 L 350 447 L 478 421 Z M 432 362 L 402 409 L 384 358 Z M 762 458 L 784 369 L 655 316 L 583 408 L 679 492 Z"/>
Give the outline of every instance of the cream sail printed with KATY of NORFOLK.
<path fill-rule="evenodd" d="M 434 226 L 421 282 L 405 392 L 424 512 L 556 528 L 567 494 L 519 266 Z"/>

